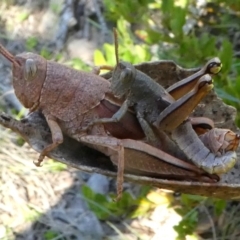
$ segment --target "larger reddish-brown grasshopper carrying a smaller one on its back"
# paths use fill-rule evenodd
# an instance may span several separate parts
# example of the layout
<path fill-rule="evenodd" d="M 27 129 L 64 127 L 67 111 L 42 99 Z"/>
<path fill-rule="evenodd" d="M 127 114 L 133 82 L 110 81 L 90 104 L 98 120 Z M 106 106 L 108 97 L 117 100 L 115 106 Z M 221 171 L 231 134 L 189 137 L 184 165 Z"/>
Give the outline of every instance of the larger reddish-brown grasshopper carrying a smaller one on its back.
<path fill-rule="evenodd" d="M 3 46 L 0 46 L 0 52 L 13 64 L 13 86 L 17 97 L 26 108 L 30 109 L 30 112 L 40 110 L 51 130 L 52 143 L 42 149 L 36 165 L 39 166 L 44 156 L 63 142 L 63 133 L 88 143 L 104 153 L 110 152 L 110 155 L 116 152 L 115 144 L 124 146 L 125 141 L 109 138 L 113 144 L 108 143 L 110 146 L 108 147 L 103 140 L 106 140 L 104 136 L 109 137 L 109 133 L 121 139 L 144 138 L 144 133 L 131 111 L 118 123 L 106 123 L 104 126 L 96 126 L 91 131 L 87 131 L 89 123 L 98 118 L 111 117 L 122 103 L 112 95 L 110 83 L 100 76 L 47 61 L 33 53 L 23 53 L 14 57 Z M 91 144 L 88 135 L 100 138 L 99 141 L 102 143 Z M 139 149 L 138 142 L 134 144 L 135 148 Z M 140 144 L 143 146 L 142 143 Z M 144 146 L 147 148 L 147 145 Z M 144 149 L 142 151 L 144 152 Z M 159 160 L 163 158 L 163 161 L 169 162 L 169 166 L 175 165 L 179 170 L 186 169 L 193 172 L 193 175 L 197 176 L 195 179 L 201 180 L 201 177 L 206 175 L 189 163 L 171 158 L 164 151 L 158 150 L 158 152 Z M 116 162 L 121 172 L 124 154 L 119 153 L 119 158 L 120 160 Z M 159 162 L 161 164 L 161 161 Z M 148 171 L 148 163 L 143 168 Z M 158 170 L 160 171 L 161 167 Z M 161 175 L 161 172 L 158 174 Z M 216 181 L 216 176 L 208 175 L 203 178 L 205 181 L 206 179 Z"/>

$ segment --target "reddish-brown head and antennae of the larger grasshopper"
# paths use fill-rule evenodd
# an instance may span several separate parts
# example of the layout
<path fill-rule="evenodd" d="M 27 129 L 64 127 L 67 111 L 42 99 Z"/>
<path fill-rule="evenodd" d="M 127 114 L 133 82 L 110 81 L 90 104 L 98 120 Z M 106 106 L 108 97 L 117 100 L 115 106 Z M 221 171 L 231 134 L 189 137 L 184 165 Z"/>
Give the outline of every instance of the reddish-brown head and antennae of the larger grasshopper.
<path fill-rule="evenodd" d="M 26 108 L 37 108 L 46 77 L 47 61 L 34 53 L 13 56 L 0 45 L 0 53 L 12 63 L 13 88 Z M 34 109 L 33 109 L 34 108 Z"/>

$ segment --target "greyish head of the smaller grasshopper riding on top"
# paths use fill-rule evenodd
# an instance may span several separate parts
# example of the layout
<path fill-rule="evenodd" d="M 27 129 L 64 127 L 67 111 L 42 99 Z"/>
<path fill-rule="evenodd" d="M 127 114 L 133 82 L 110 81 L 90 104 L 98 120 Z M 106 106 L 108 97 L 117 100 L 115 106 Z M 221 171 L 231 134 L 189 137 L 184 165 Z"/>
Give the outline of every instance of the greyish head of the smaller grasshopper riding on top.
<path fill-rule="evenodd" d="M 136 76 L 136 69 L 127 62 L 119 62 L 113 71 L 111 88 L 118 97 L 127 96 Z"/>

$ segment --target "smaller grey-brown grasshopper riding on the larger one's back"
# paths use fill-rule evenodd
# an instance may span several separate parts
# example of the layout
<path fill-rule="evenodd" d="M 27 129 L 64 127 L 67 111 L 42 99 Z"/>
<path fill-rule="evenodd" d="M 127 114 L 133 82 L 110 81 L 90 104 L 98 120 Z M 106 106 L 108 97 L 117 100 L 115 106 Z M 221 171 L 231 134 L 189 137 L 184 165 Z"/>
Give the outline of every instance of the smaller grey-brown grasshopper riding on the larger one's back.
<path fill-rule="evenodd" d="M 154 144 L 159 140 L 154 132 L 163 130 L 170 134 L 189 159 L 205 171 L 221 174 L 231 169 L 237 159 L 234 151 L 238 146 L 239 136 L 233 133 L 235 136 L 233 141 L 236 142 L 233 144 L 234 148 L 226 153 L 223 149 L 224 154 L 218 156 L 205 147 L 193 131 L 190 122 L 185 121 L 201 99 L 213 88 L 209 74 L 220 71 L 220 60 L 217 58 L 210 60 L 199 72 L 165 90 L 146 74 L 136 70 L 130 63 L 119 62 L 116 39 L 115 32 L 117 66 L 112 74 L 111 89 L 116 96 L 125 101 L 112 118 L 97 119 L 91 125 L 118 122 L 128 108 L 133 106 L 145 135 L 151 143 Z"/>

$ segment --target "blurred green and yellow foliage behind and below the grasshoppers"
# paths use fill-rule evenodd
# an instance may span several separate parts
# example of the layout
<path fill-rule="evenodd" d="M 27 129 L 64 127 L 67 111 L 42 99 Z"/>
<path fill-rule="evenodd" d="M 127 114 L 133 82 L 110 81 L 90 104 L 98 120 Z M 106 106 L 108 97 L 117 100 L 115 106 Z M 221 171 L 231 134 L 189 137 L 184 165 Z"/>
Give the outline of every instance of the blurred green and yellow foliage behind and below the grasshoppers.
<path fill-rule="evenodd" d="M 3 0 L 1 10 L 9 9 L 15 4 L 24 5 L 31 1 Z M 34 1 L 33 1 L 34 2 Z M 40 2 L 40 1 L 39 1 Z M 41 1 L 47 5 L 48 1 Z M 62 6 L 67 1 L 50 1 L 49 8 L 60 15 Z M 95 14 L 83 14 L 82 22 L 76 22 L 68 29 L 62 46 L 42 43 L 38 36 L 25 36 L 24 48 L 35 51 L 59 62 L 64 62 L 74 68 L 90 70 L 91 64 L 81 57 L 68 58 L 65 55 L 65 43 L 79 29 L 86 25 L 94 27 L 103 37 L 94 51 L 94 65 L 115 65 L 114 46 L 112 44 L 112 27 L 119 32 L 120 59 L 131 63 L 141 63 L 151 60 L 171 59 L 186 68 L 202 66 L 212 57 L 219 57 L 223 63 L 220 74 L 214 77 L 215 90 L 227 104 L 237 108 L 240 113 L 240 1 L 239 0 L 103 0 L 103 1 L 73 1 L 74 6 L 83 6 L 87 2 L 98 4 L 100 8 Z M 99 3 L 100 2 L 100 3 Z M 40 4 L 40 3 L 39 3 Z M 24 5 L 26 6 L 26 5 Z M 38 6 L 39 7 L 39 6 Z M 42 7 L 42 6 L 40 6 Z M 40 9 L 39 7 L 39 9 Z M 75 16 L 79 12 L 74 11 Z M 15 12 L 18 23 L 24 24 L 33 12 L 27 7 Z M 10 16 L 11 17 L 11 16 Z M 1 25 L 4 25 L 1 19 Z M 5 42 L 12 41 L 13 26 L 4 25 L 6 31 L 1 33 Z M 82 37 L 82 36 L 81 36 Z M 53 47 L 54 46 L 54 47 Z M 1 106 L 0 106 L 1 107 Z M 4 111 L 18 112 L 6 106 Z M 240 115 L 236 123 L 240 126 Z M 3 139 L 1 139 L 3 145 Z M 17 142 L 18 145 L 22 143 Z M 1 149 L 0 149 L 1 151 Z M 52 164 L 52 163 L 51 163 Z M 62 171 L 62 167 L 55 167 Z M 65 168 L 64 168 L 65 170 Z M 178 239 L 238 239 L 240 232 L 239 208 L 236 202 L 203 198 L 191 195 L 162 194 L 155 195 L 152 190 L 142 187 L 140 193 L 132 197 L 125 193 L 119 203 L 113 203 L 108 197 L 92 192 L 84 186 L 84 197 L 89 207 L 101 221 L 111 221 L 112 215 L 121 219 L 135 219 L 147 216 L 160 203 L 165 207 L 172 206 L 182 216 L 176 225 Z M 147 197 L 146 197 L 147 196 Z M 154 196 L 154 197 L 152 197 Z M 150 200 L 149 200 L 150 199 Z M 158 200 L 156 200 L 158 199 Z M 160 199 L 160 200 L 159 200 Z M 164 200 L 163 200 L 164 199 Z M 138 208 L 136 208 L 138 206 Z M 134 208 L 134 211 L 132 210 Z M 231 213 L 227 215 L 226 213 Z M 205 228 L 205 220 L 208 224 Z M 201 227 L 200 222 L 204 222 Z M 12 231 L 11 229 L 7 229 Z M 120 234 L 119 234 L 120 235 Z M 10 235 L 6 235 L 10 236 Z M 2 239 L 9 239 L 4 236 Z M 67 239 L 48 230 L 45 239 Z M 122 239 L 125 239 L 122 236 Z M 143 239 L 140 236 L 136 239 Z M 1 239 L 1 237 L 0 237 Z M 107 238 L 106 238 L 107 239 Z"/>

